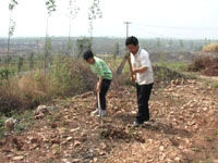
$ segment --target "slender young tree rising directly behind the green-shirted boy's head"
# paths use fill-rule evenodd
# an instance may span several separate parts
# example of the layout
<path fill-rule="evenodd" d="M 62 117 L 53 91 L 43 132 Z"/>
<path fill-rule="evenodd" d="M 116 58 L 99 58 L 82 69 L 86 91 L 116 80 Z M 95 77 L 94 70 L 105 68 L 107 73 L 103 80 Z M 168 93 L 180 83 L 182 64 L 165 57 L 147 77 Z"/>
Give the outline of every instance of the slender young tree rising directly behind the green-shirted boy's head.
<path fill-rule="evenodd" d="M 88 24 L 89 24 L 88 33 L 90 37 L 90 47 L 89 47 L 90 49 L 93 46 L 94 21 L 102 17 L 102 12 L 99 8 L 99 4 L 100 4 L 100 0 L 93 0 L 92 5 L 89 8 L 89 12 L 88 12 Z"/>

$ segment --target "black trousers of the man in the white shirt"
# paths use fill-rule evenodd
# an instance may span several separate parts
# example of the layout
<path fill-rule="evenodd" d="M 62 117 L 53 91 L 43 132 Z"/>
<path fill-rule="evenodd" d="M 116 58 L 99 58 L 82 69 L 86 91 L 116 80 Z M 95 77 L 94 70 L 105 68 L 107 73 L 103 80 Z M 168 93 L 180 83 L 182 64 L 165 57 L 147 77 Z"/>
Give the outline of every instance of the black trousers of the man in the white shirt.
<path fill-rule="evenodd" d="M 150 98 L 153 84 L 149 84 L 149 85 L 136 84 L 136 89 L 137 89 L 137 105 L 138 105 L 136 121 L 138 123 L 143 123 L 143 122 L 149 121 L 148 101 Z"/>

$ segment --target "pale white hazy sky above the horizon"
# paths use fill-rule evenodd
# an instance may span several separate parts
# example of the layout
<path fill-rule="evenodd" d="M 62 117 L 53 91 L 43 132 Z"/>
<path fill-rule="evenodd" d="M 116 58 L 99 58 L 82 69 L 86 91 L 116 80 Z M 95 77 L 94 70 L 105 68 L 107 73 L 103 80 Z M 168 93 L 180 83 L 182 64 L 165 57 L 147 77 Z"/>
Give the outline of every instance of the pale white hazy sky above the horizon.
<path fill-rule="evenodd" d="M 45 0 L 17 0 L 13 37 L 44 37 L 47 11 Z M 68 1 L 56 0 L 57 12 L 49 18 L 50 36 L 68 36 Z M 88 36 L 87 13 L 92 0 L 77 0 L 80 12 L 72 25 L 72 36 Z M 7 37 L 9 0 L 0 0 L 0 37 Z M 102 18 L 94 22 L 93 36 L 140 38 L 218 39 L 218 0 L 100 0 Z"/>

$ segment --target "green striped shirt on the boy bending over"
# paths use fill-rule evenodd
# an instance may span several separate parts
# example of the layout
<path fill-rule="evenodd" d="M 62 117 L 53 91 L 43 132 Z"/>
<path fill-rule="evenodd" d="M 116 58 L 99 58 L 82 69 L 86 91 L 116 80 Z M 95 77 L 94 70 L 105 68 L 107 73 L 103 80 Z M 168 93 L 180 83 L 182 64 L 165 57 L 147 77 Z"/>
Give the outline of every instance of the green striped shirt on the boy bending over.
<path fill-rule="evenodd" d="M 94 57 L 95 63 L 90 64 L 93 73 L 97 74 L 98 77 L 112 79 L 112 72 L 106 62 L 99 58 Z"/>

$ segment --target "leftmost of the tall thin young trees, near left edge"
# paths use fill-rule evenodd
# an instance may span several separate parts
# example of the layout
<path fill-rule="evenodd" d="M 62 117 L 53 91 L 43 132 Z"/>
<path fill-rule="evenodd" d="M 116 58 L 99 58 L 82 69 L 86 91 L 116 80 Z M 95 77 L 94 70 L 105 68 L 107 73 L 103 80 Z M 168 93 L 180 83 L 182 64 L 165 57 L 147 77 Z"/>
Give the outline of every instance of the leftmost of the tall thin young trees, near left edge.
<path fill-rule="evenodd" d="M 9 61 L 10 61 L 10 46 L 11 46 L 11 37 L 14 34 L 15 30 L 15 22 L 12 18 L 13 11 L 15 7 L 19 4 L 17 0 L 10 0 L 9 3 L 9 11 L 10 11 L 10 16 L 9 16 L 9 33 L 8 33 L 8 57 L 7 57 L 7 65 L 9 67 Z"/>

